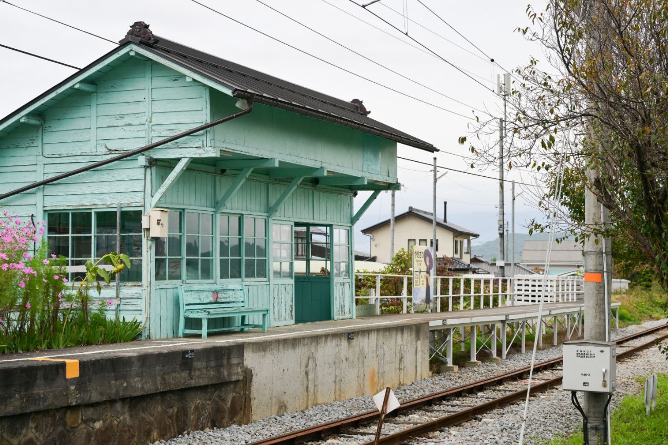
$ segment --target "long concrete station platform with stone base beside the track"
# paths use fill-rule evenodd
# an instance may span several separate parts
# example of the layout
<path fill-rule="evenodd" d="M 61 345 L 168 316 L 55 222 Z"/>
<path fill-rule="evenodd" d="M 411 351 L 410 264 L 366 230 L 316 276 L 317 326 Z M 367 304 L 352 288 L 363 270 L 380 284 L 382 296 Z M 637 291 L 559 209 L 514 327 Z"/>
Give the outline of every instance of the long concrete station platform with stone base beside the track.
<path fill-rule="evenodd" d="M 546 303 L 540 324 L 535 323 L 538 305 L 369 315 L 273 327 L 266 333 L 254 329 L 208 339 L 147 339 L 5 354 L 0 356 L 0 396 L 5 401 L 0 432 L 23 418 L 31 430 L 52 418 L 45 413 L 53 410 L 61 413 L 58 422 L 70 422 L 72 410 L 79 410 L 83 417 L 75 420 L 85 423 L 86 412 L 94 413 L 90 419 L 100 412 L 112 419 L 123 406 L 128 412 L 146 411 L 144 418 L 156 409 L 169 413 L 164 425 L 142 423 L 154 428 L 146 436 L 153 440 L 172 425 L 181 434 L 252 422 L 422 380 L 430 376 L 435 354 L 452 363 L 453 345 L 464 349 L 476 333 L 492 357 L 497 338 L 505 357 L 515 337 L 524 337 L 527 329 L 547 328 L 550 321 L 555 332 L 564 328 L 570 338 L 581 329 L 583 311 L 582 301 Z M 482 348 L 470 349 L 475 361 Z M 126 416 L 124 422 L 134 428 L 138 419 Z M 67 423 L 63 428 L 74 434 L 79 426 Z"/>

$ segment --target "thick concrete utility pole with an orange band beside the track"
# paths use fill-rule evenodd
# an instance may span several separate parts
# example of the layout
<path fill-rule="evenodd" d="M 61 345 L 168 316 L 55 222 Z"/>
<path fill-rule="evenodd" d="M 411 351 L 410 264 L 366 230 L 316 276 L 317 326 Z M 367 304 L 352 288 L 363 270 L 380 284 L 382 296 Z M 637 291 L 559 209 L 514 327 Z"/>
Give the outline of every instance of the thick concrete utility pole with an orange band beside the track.
<path fill-rule="evenodd" d="M 592 168 L 587 170 L 589 184 L 593 184 L 597 178 L 597 172 Z M 588 187 L 585 190 L 585 225 L 587 227 L 603 229 L 603 225 L 609 222 L 609 211 L 604 208 L 601 212 L 601 204 L 597 196 Z M 585 279 L 585 340 L 606 341 L 609 339 L 609 326 L 606 323 L 606 311 L 609 307 L 609 295 L 605 295 L 605 282 L 603 281 L 603 245 L 610 245 L 610 240 L 591 236 L 585 239 L 585 274 L 591 278 Z M 609 254 L 609 251 L 606 252 Z M 611 257 L 606 255 L 606 261 L 610 265 Z M 611 274 L 605 274 L 611 275 Z M 608 279 L 608 277 L 605 277 Z M 608 286 L 610 289 L 611 286 Z M 584 409 L 587 415 L 588 431 L 585 432 L 592 445 L 607 444 L 605 424 L 607 419 L 603 416 L 603 408 L 607 402 L 607 394 L 597 392 L 585 392 Z"/>

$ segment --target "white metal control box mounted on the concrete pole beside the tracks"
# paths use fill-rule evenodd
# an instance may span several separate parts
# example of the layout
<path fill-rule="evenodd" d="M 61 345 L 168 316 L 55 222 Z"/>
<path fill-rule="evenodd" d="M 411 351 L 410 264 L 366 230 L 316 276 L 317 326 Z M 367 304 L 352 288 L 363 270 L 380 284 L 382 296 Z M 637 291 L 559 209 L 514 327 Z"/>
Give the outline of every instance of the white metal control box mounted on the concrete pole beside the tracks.
<path fill-rule="evenodd" d="M 609 341 L 564 343 L 565 391 L 615 392 L 617 345 Z"/>

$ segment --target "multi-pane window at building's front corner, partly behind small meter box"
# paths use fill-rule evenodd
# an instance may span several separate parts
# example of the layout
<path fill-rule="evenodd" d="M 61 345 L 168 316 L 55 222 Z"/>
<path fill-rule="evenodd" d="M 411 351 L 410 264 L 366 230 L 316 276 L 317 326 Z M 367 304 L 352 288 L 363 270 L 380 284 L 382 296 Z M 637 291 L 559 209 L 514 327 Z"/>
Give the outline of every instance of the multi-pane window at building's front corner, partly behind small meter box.
<path fill-rule="evenodd" d="M 183 266 L 183 232 L 179 210 L 170 210 L 168 213 L 167 230 L 167 238 L 156 240 L 156 280 L 180 280 Z"/>

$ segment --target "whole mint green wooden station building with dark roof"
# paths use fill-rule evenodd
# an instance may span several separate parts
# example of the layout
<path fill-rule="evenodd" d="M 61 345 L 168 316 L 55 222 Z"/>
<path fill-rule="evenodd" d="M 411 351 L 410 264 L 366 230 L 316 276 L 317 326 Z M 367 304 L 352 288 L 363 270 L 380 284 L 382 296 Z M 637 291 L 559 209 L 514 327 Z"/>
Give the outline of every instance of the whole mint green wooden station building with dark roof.
<path fill-rule="evenodd" d="M 184 283 L 243 283 L 246 305 L 269 308 L 270 326 L 352 318 L 353 226 L 379 192 L 399 188 L 397 142 L 436 150 L 368 113 L 138 22 L 114 50 L 0 120 L 0 193 L 45 182 L 0 206 L 46 220 L 71 275 L 117 247 L 128 253 L 132 268 L 103 297 L 142 319 L 148 337 L 176 335 Z M 355 212 L 359 190 L 373 193 Z M 152 208 L 170 210 L 168 237 L 142 229 Z"/>

